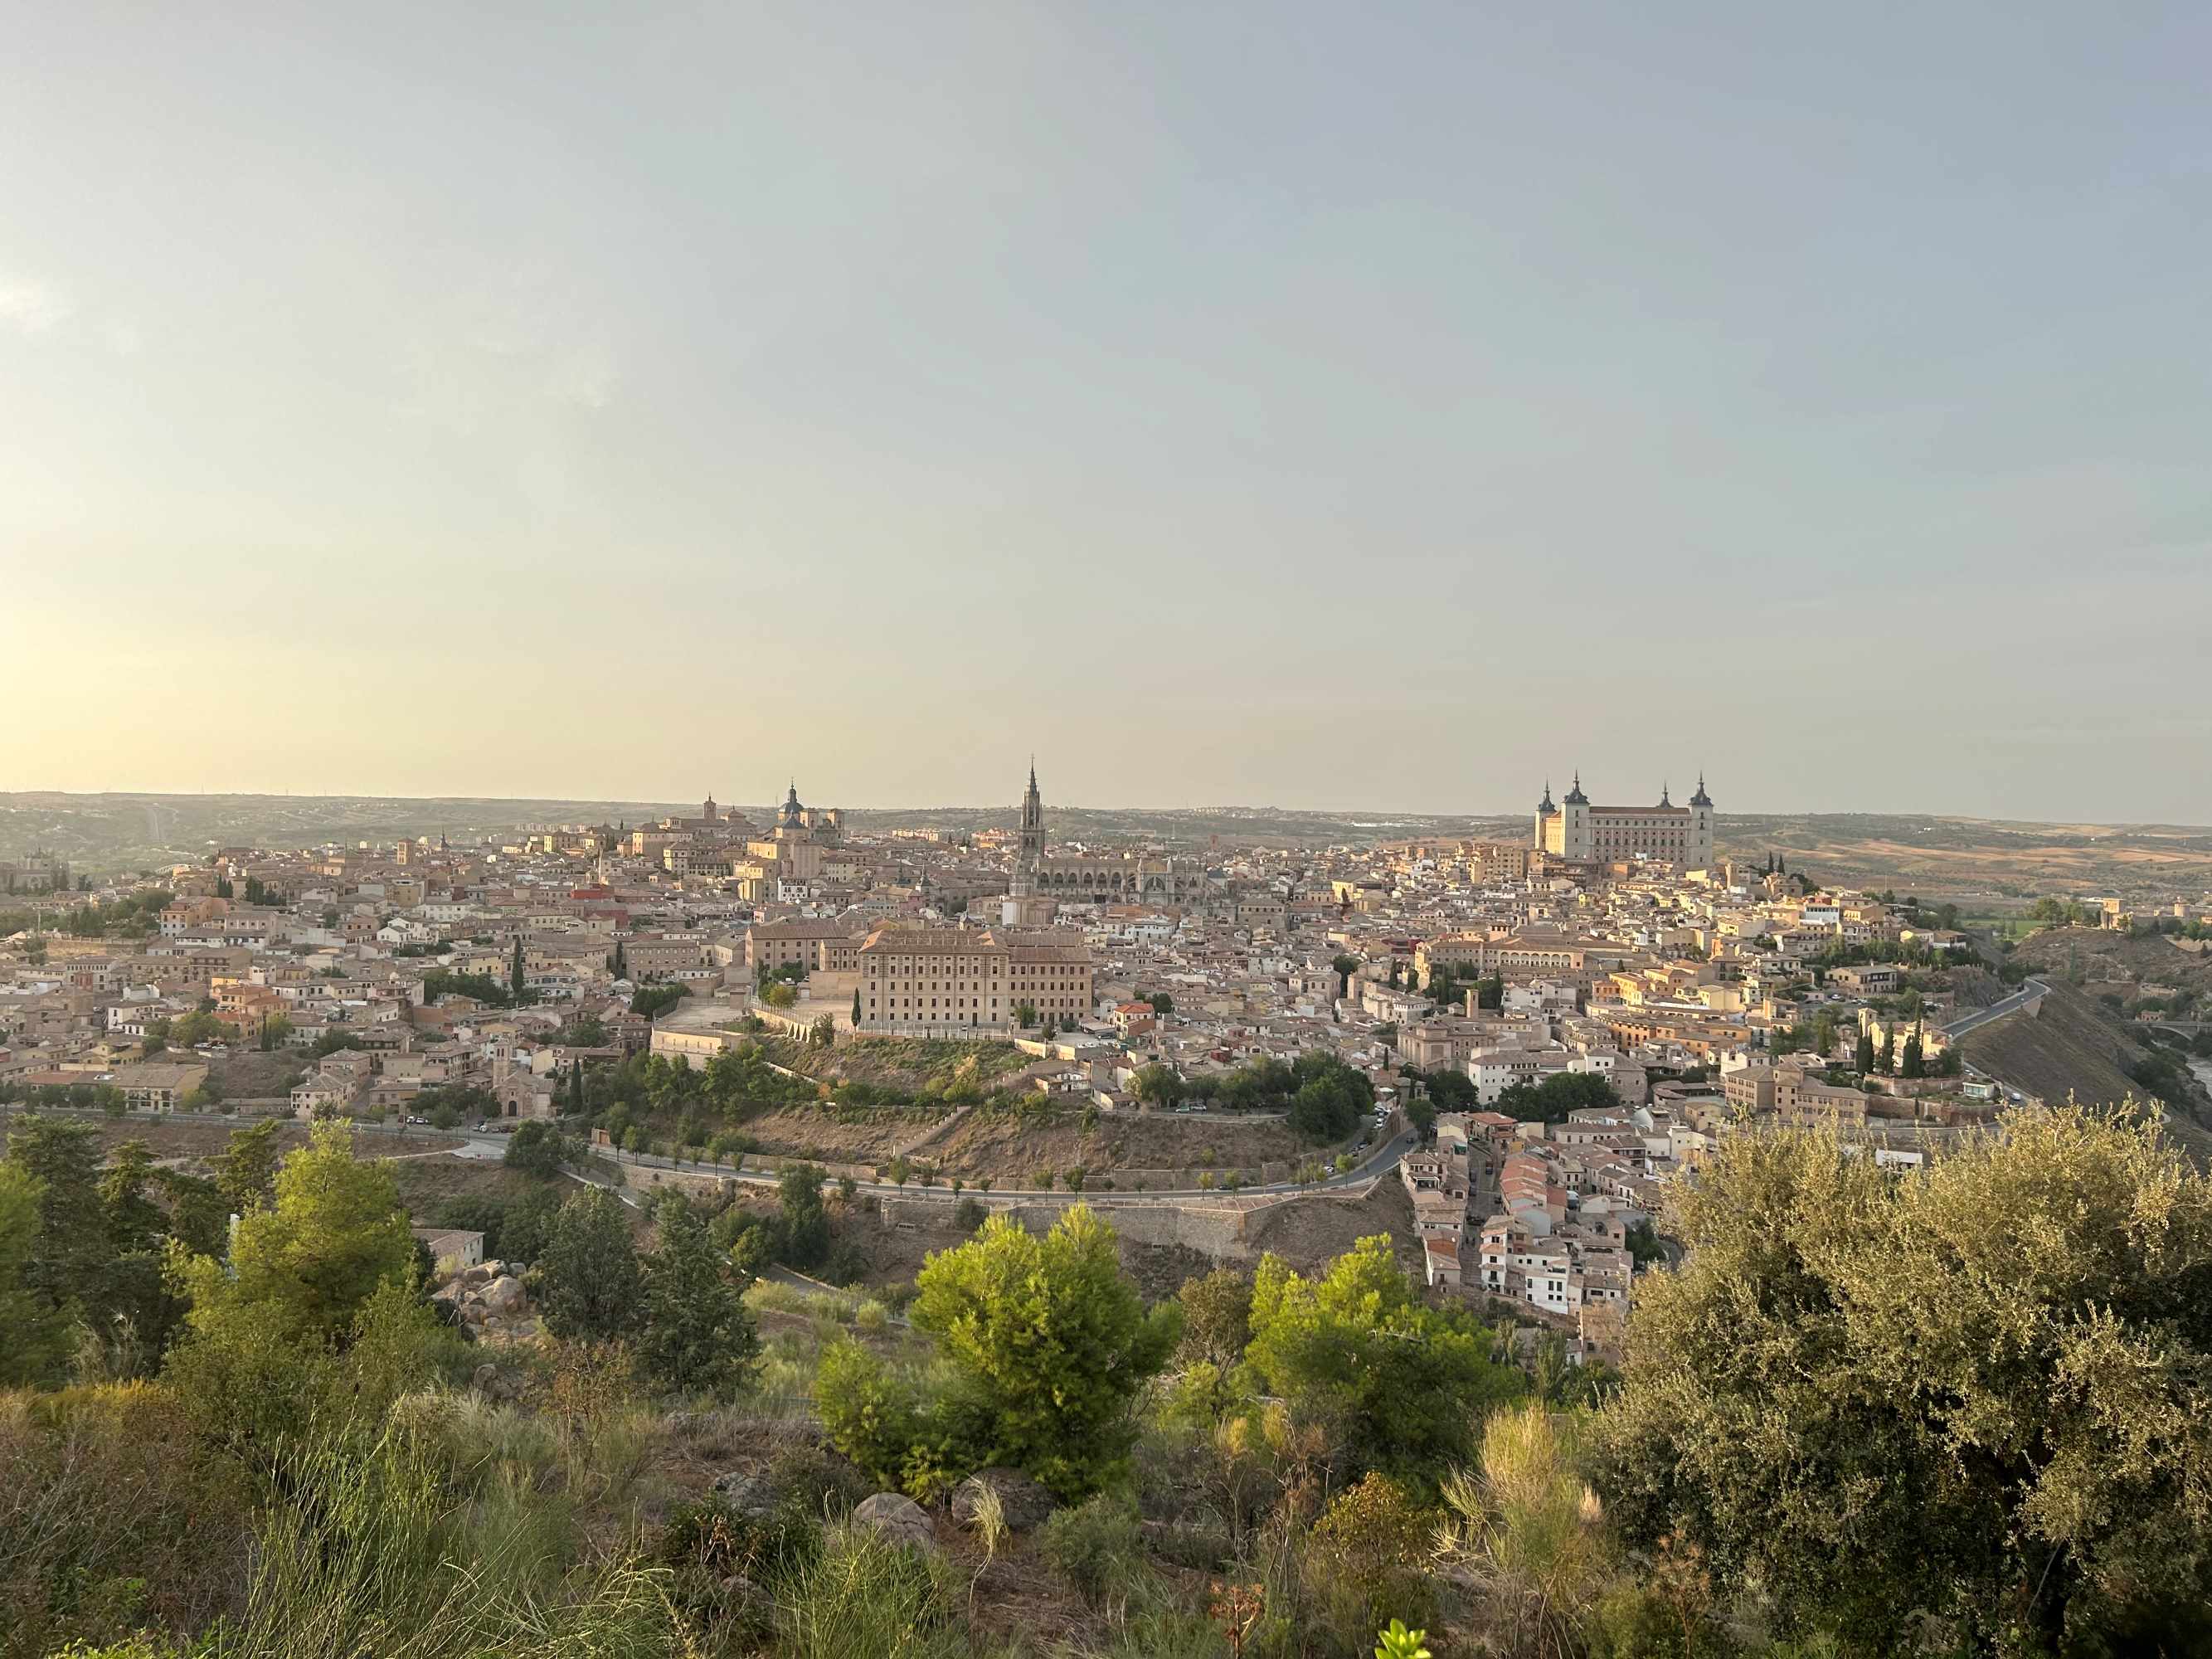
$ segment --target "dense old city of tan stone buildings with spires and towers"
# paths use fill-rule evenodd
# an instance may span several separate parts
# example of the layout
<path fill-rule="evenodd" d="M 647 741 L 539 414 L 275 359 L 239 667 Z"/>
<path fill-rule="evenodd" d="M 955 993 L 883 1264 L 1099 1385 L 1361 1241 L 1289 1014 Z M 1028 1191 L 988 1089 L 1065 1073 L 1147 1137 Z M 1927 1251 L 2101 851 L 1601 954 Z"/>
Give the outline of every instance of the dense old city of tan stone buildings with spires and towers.
<path fill-rule="evenodd" d="M 520 1117 L 577 1062 L 703 1064 L 761 1022 L 1024 1037 L 1057 1086 L 1135 1110 L 1144 1066 L 1321 1048 L 1385 1106 L 1464 1079 L 1400 1170 L 1429 1279 L 1584 1325 L 1617 1318 L 1628 1232 L 1717 1137 L 1832 1124 L 1911 1161 L 2015 1104 L 1944 1075 L 1944 1024 L 2002 993 L 1942 971 L 1969 940 L 1721 856 L 1703 779 L 1683 805 L 1604 807 L 1577 776 L 1526 838 L 1325 849 L 1053 845 L 1035 768 L 1011 830 L 867 834 L 796 783 L 763 818 L 706 799 L 471 847 L 223 847 L 88 891 L 15 867 L 40 914 L 0 940 L 0 1082 L 106 1077 L 175 1106 L 219 1051 L 276 1033 L 305 1051 L 299 1110 L 473 1084 Z M 144 889 L 168 902 L 128 929 L 66 925 Z M 648 987 L 690 995 L 646 1018 Z M 217 1040 L 146 1053 L 188 1020 Z M 1610 1104 L 1522 1121 L 1562 1075 Z"/>

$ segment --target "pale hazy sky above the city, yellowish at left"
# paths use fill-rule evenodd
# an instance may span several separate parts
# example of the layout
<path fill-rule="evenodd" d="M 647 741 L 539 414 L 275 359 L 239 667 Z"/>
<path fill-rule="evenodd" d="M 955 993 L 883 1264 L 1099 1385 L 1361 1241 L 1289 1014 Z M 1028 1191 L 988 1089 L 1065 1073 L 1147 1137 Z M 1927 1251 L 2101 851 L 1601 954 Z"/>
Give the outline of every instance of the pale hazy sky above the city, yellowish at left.
<path fill-rule="evenodd" d="M 2212 9 L 18 4 L 0 790 L 2212 823 Z"/>

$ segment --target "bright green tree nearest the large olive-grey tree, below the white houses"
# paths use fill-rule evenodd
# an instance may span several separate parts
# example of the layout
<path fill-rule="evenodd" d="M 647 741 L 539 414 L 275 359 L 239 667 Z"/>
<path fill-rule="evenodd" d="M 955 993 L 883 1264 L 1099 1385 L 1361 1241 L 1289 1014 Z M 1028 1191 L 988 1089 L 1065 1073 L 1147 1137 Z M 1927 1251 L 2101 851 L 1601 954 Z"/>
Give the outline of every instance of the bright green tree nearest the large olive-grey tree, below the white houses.
<path fill-rule="evenodd" d="M 1425 1480 L 1464 1462 L 1482 1416 L 1520 1391 L 1467 1314 L 1420 1301 L 1383 1234 L 1321 1279 L 1263 1256 L 1245 1358 L 1261 1391 L 1323 1425 L 1354 1467 Z"/>

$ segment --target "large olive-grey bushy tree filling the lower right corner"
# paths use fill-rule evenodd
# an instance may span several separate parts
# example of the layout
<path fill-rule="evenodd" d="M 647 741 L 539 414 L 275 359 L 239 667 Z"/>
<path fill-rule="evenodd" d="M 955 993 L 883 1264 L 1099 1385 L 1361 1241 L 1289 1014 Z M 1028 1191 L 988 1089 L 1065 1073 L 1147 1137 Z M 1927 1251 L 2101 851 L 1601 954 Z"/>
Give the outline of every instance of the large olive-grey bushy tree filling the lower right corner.
<path fill-rule="evenodd" d="M 2154 1119 L 2011 1117 L 1909 1177 L 1741 1135 L 1679 1194 L 1597 1475 L 1798 1628 L 2192 1652 L 2212 1604 L 2212 1183 Z"/>

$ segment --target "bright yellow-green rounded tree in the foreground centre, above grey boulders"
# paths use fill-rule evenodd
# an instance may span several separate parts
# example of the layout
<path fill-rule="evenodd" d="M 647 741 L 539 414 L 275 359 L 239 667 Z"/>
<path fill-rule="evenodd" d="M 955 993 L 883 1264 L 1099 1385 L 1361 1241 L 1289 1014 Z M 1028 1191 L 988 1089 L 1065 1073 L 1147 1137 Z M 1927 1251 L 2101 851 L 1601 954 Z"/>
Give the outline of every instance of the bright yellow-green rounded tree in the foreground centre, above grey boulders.
<path fill-rule="evenodd" d="M 1062 1498 L 1117 1478 L 1133 1402 L 1175 1349 L 1172 1303 L 1146 1312 L 1115 1232 L 1073 1206 L 1042 1239 L 1006 1217 L 942 1250 L 916 1279 L 914 1323 L 993 1413 L 991 1455 Z"/>

